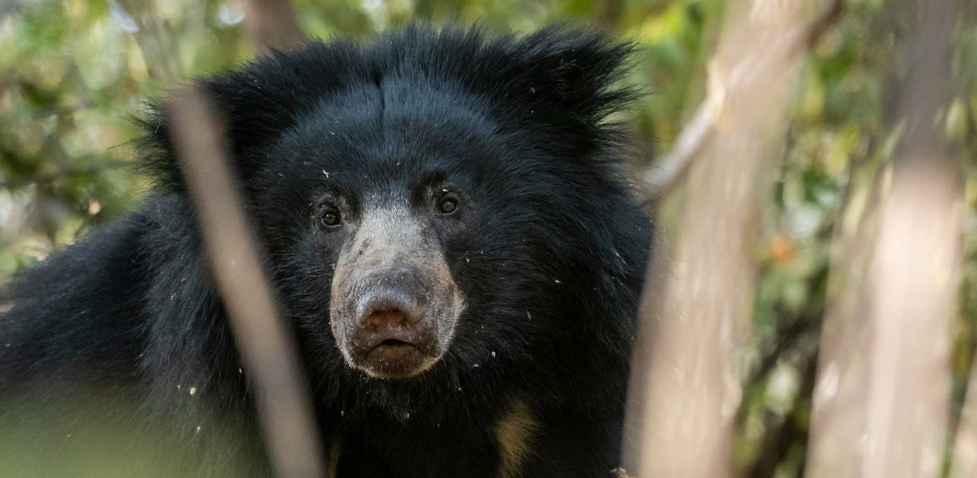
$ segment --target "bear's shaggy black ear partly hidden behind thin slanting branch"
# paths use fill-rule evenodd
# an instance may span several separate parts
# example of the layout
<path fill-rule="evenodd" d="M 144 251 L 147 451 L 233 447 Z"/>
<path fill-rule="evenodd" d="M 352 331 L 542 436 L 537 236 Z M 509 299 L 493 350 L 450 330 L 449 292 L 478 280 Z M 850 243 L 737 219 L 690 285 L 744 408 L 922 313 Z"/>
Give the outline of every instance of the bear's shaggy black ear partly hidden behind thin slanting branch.
<path fill-rule="evenodd" d="M 350 68 L 334 63 L 354 48 L 341 41 L 328 45 L 314 41 L 307 47 L 274 51 L 232 71 L 194 81 L 194 87 L 211 102 L 216 119 L 222 122 L 238 178 L 247 180 L 261 168 L 261 158 L 252 151 L 275 141 L 320 99 L 344 88 Z M 150 102 L 144 116 L 136 119 L 144 134 L 135 143 L 142 156 L 142 169 L 157 185 L 183 190 L 167 128 L 170 115 L 166 100 Z"/>

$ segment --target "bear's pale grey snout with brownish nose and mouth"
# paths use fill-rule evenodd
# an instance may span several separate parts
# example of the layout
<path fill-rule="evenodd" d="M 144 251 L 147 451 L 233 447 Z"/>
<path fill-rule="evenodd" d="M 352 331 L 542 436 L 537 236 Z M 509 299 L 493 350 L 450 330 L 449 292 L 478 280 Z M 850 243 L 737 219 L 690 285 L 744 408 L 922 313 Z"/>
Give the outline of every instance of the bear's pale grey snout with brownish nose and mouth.
<path fill-rule="evenodd" d="M 462 309 L 437 242 L 403 209 L 364 215 L 332 281 L 331 325 L 347 362 L 409 378 L 446 352 Z"/>

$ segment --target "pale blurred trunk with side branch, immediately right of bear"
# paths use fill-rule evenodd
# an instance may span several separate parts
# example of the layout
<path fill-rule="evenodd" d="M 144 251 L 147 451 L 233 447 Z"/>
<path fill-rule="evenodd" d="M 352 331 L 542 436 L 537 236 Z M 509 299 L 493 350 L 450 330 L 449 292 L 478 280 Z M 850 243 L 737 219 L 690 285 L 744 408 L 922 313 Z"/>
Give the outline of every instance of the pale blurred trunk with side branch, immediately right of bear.
<path fill-rule="evenodd" d="M 801 60 L 839 8 L 730 2 L 707 97 L 672 154 L 646 173 L 664 192 L 687 180 L 670 268 L 661 276 L 652 266 L 642 306 L 627 419 L 639 431 L 623 458 L 640 478 L 732 474 L 742 394 L 734 355 L 754 296 L 757 200 L 768 190 L 759 179 L 783 147 Z"/>

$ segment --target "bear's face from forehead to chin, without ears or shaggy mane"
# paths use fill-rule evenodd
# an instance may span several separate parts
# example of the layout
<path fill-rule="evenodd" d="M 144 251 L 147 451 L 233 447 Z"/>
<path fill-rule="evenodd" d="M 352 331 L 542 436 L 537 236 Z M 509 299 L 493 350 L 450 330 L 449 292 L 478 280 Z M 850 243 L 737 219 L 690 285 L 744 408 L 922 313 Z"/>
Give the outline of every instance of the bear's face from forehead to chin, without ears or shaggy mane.
<path fill-rule="evenodd" d="M 522 209 L 511 165 L 532 162 L 478 103 L 391 80 L 323 102 L 262 153 L 276 166 L 252 182 L 276 187 L 251 195 L 273 256 L 287 258 L 274 266 L 305 317 L 302 341 L 330 343 L 369 377 L 413 378 L 450 353 L 462 322 L 484 331 L 489 310 L 519 300 L 475 290 L 500 266 L 486 241 L 493 258 L 518 256 L 523 219 L 540 216 L 507 213 Z"/>

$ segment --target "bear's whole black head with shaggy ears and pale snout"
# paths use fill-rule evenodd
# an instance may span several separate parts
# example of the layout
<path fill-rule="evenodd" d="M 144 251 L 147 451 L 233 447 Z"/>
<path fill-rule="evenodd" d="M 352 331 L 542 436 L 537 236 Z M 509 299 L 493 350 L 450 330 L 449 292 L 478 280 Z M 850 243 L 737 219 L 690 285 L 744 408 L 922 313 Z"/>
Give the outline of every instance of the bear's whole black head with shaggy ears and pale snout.
<path fill-rule="evenodd" d="M 599 374 L 626 350 L 650 238 L 608 120 L 634 96 L 614 85 L 631 48 L 413 26 L 199 82 L 322 393 L 543 386 L 519 364 Z M 144 146 L 181 191 L 164 116 Z"/>

